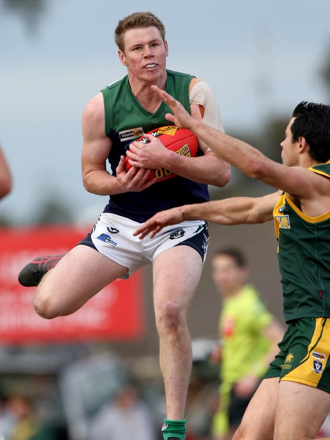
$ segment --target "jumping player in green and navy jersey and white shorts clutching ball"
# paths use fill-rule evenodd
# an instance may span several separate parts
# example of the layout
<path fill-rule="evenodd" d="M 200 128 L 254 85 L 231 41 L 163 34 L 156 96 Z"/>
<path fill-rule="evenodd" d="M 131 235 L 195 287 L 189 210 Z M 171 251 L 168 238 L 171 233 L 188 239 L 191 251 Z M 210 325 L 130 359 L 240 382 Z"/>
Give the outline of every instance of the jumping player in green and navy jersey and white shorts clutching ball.
<path fill-rule="evenodd" d="M 21 271 L 19 280 L 25 286 L 40 282 L 34 307 L 39 315 L 51 319 L 74 313 L 116 278 L 127 278 L 151 262 L 167 404 L 162 431 L 166 439 L 183 440 L 191 369 L 186 311 L 206 257 L 207 224 L 184 222 L 143 246 L 133 232 L 137 224 L 161 209 L 180 206 L 187 200 L 209 200 L 207 184 L 224 186 L 230 168 L 202 142 L 196 157 L 179 155 L 150 142 L 146 148 L 145 144 L 135 144 L 144 151 L 143 166 L 125 171 L 130 142 L 150 129 L 169 125 L 164 116 L 170 109 L 152 92 L 151 85 L 173 93 L 196 120 L 222 129 L 210 88 L 192 75 L 166 70 L 169 49 L 164 36 L 163 24 L 152 13 L 135 13 L 119 21 L 115 40 L 127 76 L 92 98 L 82 117 L 83 184 L 89 192 L 110 195 L 109 204 L 78 246 L 63 258 L 48 259 L 46 265 L 40 258 L 34 260 Z M 112 174 L 107 171 L 107 159 Z M 153 185 L 155 179 L 147 181 L 149 168 L 158 166 L 177 176 Z M 113 230 L 115 236 L 111 235 Z"/>

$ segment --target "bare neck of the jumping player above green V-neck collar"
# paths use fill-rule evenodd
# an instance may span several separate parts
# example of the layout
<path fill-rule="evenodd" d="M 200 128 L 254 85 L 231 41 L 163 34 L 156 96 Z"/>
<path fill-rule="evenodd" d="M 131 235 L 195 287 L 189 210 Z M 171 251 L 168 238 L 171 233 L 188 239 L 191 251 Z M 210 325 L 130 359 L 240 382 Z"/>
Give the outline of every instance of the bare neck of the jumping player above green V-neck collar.
<path fill-rule="evenodd" d="M 139 103 L 150 113 L 155 113 L 161 104 L 161 99 L 151 90 L 151 85 L 155 84 L 160 89 L 166 88 L 166 73 L 155 82 L 141 81 L 136 77 L 130 77 L 128 74 L 129 85 L 134 96 Z"/>

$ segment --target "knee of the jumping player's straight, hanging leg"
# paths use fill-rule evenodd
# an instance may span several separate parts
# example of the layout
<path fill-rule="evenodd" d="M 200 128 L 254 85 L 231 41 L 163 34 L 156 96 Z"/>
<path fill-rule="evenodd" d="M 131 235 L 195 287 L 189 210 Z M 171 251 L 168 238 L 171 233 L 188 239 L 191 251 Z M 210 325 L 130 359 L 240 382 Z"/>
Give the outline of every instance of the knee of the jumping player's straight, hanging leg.
<path fill-rule="evenodd" d="M 177 333 L 185 323 L 184 313 L 176 301 L 164 301 L 155 313 L 159 333 Z"/>

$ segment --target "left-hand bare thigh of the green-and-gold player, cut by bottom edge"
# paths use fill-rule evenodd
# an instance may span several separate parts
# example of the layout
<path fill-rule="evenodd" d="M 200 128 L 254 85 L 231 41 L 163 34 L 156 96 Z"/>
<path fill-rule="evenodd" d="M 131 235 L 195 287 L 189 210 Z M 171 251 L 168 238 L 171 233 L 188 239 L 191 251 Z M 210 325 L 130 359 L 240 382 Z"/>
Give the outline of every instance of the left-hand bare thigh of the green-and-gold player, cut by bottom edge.
<path fill-rule="evenodd" d="M 263 379 L 233 440 L 273 440 L 278 378 Z"/>

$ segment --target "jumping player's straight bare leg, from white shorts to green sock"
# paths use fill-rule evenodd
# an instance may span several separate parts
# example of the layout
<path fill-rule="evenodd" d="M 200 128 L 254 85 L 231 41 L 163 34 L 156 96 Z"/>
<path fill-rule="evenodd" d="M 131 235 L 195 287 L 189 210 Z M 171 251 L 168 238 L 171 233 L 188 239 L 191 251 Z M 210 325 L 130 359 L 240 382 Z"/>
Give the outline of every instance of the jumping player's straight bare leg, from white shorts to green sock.
<path fill-rule="evenodd" d="M 202 267 L 201 255 L 189 246 L 175 246 L 163 251 L 153 262 L 160 368 L 166 392 L 167 418 L 170 420 L 182 420 L 184 417 L 191 370 L 186 312 L 199 283 Z"/>

